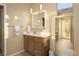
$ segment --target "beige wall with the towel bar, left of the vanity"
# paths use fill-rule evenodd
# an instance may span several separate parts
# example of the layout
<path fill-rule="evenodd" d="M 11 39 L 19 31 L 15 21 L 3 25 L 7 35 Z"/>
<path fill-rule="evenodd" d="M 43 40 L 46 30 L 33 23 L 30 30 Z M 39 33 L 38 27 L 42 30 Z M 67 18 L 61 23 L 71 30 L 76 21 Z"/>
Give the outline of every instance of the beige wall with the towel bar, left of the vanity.
<path fill-rule="evenodd" d="M 29 23 L 30 19 L 30 9 L 29 4 L 5 4 L 7 7 L 7 15 L 9 16 L 8 19 L 8 39 L 6 41 L 6 50 L 7 55 L 14 54 L 18 51 L 24 50 L 23 48 L 23 31 L 26 31 L 26 25 Z M 17 16 L 18 19 L 14 19 Z M 14 26 L 20 26 L 20 35 L 16 35 Z"/>

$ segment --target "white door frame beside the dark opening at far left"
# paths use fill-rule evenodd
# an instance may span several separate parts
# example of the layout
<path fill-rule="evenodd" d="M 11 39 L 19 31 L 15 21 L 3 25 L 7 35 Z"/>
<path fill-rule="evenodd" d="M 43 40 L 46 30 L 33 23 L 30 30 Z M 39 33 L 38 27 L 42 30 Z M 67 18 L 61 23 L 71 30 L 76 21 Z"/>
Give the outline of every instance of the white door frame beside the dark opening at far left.
<path fill-rule="evenodd" d="M 3 16 L 3 40 L 2 40 L 2 53 L 3 53 L 3 55 L 4 56 L 6 56 L 6 38 L 5 38 L 5 20 L 6 20 L 6 18 L 5 18 L 5 15 L 6 15 L 6 5 L 5 4 L 2 4 L 2 3 L 0 3 L 0 5 L 1 6 L 3 6 L 3 8 L 4 8 L 4 12 L 3 12 L 3 14 L 4 14 L 4 16 Z"/>

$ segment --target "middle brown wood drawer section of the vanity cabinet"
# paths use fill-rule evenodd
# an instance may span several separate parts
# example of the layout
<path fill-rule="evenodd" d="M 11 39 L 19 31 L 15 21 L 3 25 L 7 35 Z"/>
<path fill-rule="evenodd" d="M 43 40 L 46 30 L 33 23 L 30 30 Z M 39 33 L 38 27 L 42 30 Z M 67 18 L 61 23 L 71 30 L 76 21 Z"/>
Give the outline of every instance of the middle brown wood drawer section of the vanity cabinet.
<path fill-rule="evenodd" d="M 35 56 L 42 56 L 41 47 L 42 47 L 42 39 L 40 37 L 34 37 L 34 55 Z"/>

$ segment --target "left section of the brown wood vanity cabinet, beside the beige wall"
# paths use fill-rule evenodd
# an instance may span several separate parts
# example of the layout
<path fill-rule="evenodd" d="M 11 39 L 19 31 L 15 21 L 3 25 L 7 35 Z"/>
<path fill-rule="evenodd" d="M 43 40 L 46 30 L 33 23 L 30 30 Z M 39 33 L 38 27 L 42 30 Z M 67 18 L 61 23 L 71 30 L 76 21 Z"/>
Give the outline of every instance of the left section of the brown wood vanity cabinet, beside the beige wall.
<path fill-rule="evenodd" d="M 33 54 L 33 37 L 24 35 L 24 49 Z"/>

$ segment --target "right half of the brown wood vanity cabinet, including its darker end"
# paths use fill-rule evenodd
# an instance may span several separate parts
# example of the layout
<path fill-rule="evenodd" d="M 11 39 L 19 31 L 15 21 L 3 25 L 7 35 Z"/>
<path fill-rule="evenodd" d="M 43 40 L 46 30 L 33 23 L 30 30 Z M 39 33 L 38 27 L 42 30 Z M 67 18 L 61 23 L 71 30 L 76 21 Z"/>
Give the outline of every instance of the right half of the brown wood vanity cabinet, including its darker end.
<path fill-rule="evenodd" d="M 49 38 L 35 37 L 34 38 L 34 55 L 47 56 L 48 55 L 48 40 Z"/>

